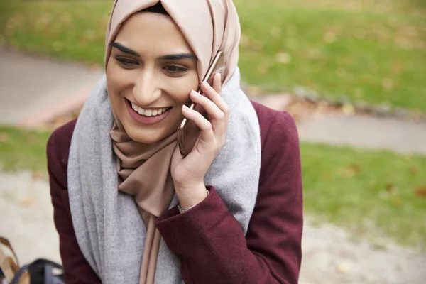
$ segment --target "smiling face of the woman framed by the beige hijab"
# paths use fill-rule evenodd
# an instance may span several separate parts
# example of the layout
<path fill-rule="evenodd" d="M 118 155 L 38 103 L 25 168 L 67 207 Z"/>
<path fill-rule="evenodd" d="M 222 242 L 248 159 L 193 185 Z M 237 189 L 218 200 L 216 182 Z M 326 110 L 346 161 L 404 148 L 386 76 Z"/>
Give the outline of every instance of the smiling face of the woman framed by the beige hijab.
<path fill-rule="evenodd" d="M 111 43 L 107 88 L 134 141 L 155 143 L 176 131 L 198 84 L 197 58 L 170 16 L 135 13 L 121 26 Z"/>

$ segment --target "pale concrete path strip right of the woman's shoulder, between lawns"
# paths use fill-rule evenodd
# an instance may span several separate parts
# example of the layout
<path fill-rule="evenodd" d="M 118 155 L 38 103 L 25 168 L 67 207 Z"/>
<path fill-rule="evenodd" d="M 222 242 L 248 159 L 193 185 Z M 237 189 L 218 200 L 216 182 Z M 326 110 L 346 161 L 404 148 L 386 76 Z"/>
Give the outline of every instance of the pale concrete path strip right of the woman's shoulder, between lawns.
<path fill-rule="evenodd" d="M 298 129 L 301 141 L 426 155 L 424 122 L 330 115 L 321 119 L 304 119 Z"/>

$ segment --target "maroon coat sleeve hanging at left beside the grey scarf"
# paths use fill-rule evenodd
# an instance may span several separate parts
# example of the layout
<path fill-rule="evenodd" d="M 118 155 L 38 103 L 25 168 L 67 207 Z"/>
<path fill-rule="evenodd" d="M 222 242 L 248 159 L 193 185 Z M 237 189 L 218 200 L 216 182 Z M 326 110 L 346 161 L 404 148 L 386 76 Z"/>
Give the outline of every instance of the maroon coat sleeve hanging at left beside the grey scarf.
<path fill-rule="evenodd" d="M 60 131 L 60 129 L 59 129 Z M 69 146 L 58 141 L 57 137 L 63 137 L 65 133 L 53 132 L 48 140 L 47 157 L 50 182 L 50 196 L 53 204 L 53 220 L 59 234 L 60 256 L 65 271 L 65 283 L 67 284 L 94 284 L 101 283 L 96 273 L 84 258 L 80 246 L 77 244 L 74 227 L 72 226 L 70 205 L 67 192 L 67 161 L 65 152 Z M 61 151 L 66 148 L 65 151 Z M 62 152 L 62 155 L 60 154 Z"/>

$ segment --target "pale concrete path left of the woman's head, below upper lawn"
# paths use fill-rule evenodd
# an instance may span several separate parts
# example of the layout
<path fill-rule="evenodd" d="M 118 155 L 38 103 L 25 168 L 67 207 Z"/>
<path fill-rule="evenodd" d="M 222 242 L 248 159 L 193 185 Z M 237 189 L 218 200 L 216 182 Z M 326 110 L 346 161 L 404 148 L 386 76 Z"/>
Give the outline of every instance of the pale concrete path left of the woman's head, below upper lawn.
<path fill-rule="evenodd" d="M 37 126 L 77 107 L 101 70 L 0 48 L 0 124 Z"/>

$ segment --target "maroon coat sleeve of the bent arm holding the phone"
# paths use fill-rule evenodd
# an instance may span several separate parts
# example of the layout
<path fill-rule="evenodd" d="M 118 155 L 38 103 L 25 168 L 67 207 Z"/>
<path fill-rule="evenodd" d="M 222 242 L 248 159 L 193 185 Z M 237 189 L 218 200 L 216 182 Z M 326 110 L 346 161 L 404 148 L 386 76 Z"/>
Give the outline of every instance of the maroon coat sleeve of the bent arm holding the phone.
<path fill-rule="evenodd" d="M 271 123 L 261 124 L 261 136 L 261 177 L 246 236 L 214 187 L 184 214 L 173 208 L 157 220 L 180 258 L 185 283 L 297 283 L 303 221 L 295 122 L 276 112 Z"/>

